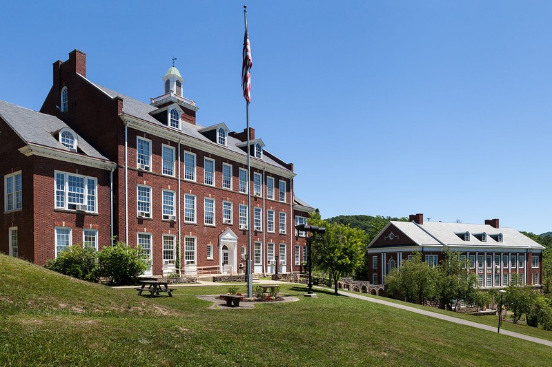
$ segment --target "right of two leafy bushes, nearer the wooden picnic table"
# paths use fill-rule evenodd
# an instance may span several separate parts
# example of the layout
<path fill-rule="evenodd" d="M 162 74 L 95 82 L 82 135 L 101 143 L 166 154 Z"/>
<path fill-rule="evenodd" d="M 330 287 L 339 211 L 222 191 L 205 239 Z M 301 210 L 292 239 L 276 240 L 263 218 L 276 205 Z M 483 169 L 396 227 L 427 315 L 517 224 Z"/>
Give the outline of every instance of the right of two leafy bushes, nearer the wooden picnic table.
<path fill-rule="evenodd" d="M 123 242 L 103 247 L 98 253 L 98 277 L 110 277 L 115 285 L 135 284 L 139 275 L 148 269 L 140 248 L 132 249 Z"/>

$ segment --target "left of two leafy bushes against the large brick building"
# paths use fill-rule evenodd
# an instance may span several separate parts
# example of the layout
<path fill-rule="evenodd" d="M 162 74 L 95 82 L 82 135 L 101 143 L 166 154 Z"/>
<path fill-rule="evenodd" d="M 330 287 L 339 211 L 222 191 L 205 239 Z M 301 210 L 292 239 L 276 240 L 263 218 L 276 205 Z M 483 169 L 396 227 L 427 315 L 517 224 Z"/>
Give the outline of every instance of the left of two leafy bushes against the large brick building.
<path fill-rule="evenodd" d="M 46 268 L 58 273 L 94 282 L 97 266 L 97 252 L 90 247 L 75 244 L 46 262 Z"/>

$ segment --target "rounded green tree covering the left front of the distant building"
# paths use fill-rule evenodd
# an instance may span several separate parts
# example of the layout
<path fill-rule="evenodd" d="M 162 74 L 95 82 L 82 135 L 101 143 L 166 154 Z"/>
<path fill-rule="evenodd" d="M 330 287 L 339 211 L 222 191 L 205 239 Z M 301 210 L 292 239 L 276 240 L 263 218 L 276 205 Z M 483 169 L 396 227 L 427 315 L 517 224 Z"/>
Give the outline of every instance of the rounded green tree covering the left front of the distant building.
<path fill-rule="evenodd" d="M 411 260 L 404 260 L 385 277 L 387 291 L 407 302 L 425 304 L 433 295 L 433 271 L 422 261 L 422 254 L 415 252 Z"/>

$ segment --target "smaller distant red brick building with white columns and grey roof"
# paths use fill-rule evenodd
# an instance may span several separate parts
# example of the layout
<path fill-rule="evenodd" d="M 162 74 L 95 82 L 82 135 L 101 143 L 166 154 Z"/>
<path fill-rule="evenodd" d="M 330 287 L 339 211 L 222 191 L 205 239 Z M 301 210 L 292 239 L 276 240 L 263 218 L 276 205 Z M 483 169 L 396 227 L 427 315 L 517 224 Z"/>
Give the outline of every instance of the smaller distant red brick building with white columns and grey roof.
<path fill-rule="evenodd" d="M 444 247 L 462 253 L 483 289 L 507 286 L 514 274 L 524 284 L 541 284 L 544 247 L 526 235 L 500 227 L 498 219 L 485 224 L 424 222 L 423 214 L 411 215 L 410 222 L 389 222 L 368 244 L 368 281 L 383 284 L 385 275 L 414 251 L 436 266 Z"/>

